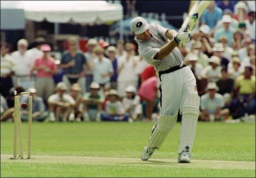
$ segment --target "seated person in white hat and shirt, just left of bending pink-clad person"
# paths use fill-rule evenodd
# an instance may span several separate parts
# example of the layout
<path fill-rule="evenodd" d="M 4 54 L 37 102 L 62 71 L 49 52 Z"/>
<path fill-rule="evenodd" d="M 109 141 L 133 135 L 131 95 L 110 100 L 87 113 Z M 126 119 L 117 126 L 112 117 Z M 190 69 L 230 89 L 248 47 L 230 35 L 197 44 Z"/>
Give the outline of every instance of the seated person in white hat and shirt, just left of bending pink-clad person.
<path fill-rule="evenodd" d="M 122 99 L 122 105 L 129 118 L 136 121 L 142 115 L 140 97 L 136 94 L 136 88 L 132 85 L 127 86 L 125 91 L 126 96 Z"/>

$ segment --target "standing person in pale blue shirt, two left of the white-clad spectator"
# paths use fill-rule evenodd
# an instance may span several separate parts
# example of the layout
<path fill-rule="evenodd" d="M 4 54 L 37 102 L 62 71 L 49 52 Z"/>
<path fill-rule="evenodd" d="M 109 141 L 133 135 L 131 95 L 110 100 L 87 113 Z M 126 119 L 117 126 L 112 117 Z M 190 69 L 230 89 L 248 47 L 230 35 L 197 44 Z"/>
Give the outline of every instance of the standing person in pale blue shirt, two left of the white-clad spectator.
<path fill-rule="evenodd" d="M 103 93 L 105 88 L 110 87 L 110 77 L 113 75 L 113 66 L 111 61 L 104 57 L 104 49 L 100 46 L 93 48 L 93 53 L 96 54 L 93 69 L 93 81 L 100 85 L 100 92 Z"/>

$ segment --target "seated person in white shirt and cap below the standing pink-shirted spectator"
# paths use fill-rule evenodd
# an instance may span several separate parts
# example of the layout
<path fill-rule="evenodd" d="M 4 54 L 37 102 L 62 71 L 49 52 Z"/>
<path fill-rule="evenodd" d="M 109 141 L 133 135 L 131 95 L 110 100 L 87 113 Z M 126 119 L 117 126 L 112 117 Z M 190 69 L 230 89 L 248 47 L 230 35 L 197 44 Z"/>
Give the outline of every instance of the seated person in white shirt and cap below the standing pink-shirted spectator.
<path fill-rule="evenodd" d="M 67 90 L 66 84 L 64 82 L 59 82 L 56 86 L 57 93 L 50 95 L 47 102 L 49 106 L 49 119 L 51 122 L 55 120 L 60 121 L 60 115 L 63 113 L 62 121 L 66 122 L 71 109 L 75 105 L 74 99 L 65 94 Z"/>

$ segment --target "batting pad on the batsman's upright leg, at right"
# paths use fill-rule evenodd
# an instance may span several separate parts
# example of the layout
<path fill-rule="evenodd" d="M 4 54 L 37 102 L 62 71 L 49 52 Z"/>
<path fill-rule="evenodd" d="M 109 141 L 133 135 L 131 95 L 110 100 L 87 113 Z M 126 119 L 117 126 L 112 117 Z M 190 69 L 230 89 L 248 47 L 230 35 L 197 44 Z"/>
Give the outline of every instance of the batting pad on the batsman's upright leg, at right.
<path fill-rule="evenodd" d="M 189 94 L 182 106 L 182 120 L 180 127 L 180 138 L 178 154 L 181 154 L 186 146 L 189 152 L 192 151 L 196 123 L 199 116 L 200 97 L 196 94 Z"/>

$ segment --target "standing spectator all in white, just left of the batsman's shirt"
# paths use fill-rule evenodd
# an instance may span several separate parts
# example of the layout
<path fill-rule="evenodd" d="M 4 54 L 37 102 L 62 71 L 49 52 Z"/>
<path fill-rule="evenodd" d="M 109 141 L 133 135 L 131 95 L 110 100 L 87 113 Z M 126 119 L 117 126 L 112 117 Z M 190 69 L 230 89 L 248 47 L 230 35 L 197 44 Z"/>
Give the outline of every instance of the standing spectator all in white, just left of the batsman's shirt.
<path fill-rule="evenodd" d="M 118 96 L 122 99 L 126 93 L 125 88 L 129 85 L 137 88 L 138 77 L 135 73 L 136 57 L 134 56 L 134 49 L 132 43 L 125 44 L 126 55 L 117 58 L 118 77 L 117 77 L 117 91 Z"/>

